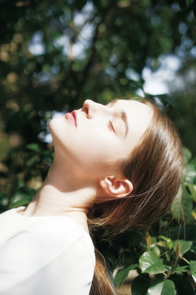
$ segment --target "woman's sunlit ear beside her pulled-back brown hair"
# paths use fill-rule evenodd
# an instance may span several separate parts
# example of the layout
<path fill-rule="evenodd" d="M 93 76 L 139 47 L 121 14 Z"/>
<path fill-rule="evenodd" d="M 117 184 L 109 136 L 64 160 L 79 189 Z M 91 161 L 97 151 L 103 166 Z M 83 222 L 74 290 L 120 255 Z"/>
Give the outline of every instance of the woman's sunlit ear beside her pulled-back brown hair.
<path fill-rule="evenodd" d="M 105 177 L 99 183 L 102 189 L 114 198 L 126 197 L 133 191 L 133 185 L 126 177 Z"/>

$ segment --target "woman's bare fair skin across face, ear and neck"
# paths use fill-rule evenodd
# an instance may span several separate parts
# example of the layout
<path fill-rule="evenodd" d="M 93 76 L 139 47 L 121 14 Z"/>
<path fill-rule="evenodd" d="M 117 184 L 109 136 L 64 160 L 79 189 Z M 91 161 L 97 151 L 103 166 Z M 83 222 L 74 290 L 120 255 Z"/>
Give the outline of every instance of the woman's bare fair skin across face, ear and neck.
<path fill-rule="evenodd" d="M 104 106 L 85 100 L 76 126 L 65 115 L 52 119 L 55 156 L 24 216 L 66 216 L 88 233 L 93 202 L 125 197 L 133 190 L 116 163 L 128 157 L 152 119 L 152 109 L 135 100 Z"/>

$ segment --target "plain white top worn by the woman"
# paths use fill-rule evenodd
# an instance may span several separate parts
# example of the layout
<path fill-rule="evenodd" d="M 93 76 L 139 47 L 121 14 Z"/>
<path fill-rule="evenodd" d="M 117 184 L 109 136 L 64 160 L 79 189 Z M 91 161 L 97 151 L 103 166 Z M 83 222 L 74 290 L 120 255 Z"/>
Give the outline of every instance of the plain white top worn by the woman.
<path fill-rule="evenodd" d="M 0 295 L 88 295 L 94 245 L 64 216 L 0 214 Z"/>

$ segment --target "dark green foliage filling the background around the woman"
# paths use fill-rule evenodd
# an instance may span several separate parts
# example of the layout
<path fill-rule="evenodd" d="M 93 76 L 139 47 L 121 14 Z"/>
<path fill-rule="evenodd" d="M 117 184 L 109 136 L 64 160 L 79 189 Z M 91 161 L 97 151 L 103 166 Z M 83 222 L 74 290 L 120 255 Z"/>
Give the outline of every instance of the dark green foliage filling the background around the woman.
<path fill-rule="evenodd" d="M 133 294 L 193 294 L 186 278 L 196 277 L 195 3 L 0 0 L 0 212 L 31 201 L 54 156 L 48 120 L 85 99 L 142 93 L 168 111 L 191 150 L 184 149 L 181 190 L 165 218 L 148 232 L 97 241 L 112 269 L 124 266 L 116 285 L 137 269 Z M 169 94 L 144 93 L 144 68 L 156 73 L 169 55 L 181 61 Z"/>

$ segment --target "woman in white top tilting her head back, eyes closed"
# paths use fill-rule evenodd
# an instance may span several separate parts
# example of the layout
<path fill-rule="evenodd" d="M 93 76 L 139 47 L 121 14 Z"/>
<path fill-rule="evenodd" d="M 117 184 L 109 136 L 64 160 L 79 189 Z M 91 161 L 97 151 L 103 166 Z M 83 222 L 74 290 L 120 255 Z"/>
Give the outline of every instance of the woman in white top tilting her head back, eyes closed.
<path fill-rule="evenodd" d="M 49 130 L 55 156 L 42 187 L 0 215 L 0 294 L 115 294 L 89 231 L 113 236 L 165 213 L 182 176 L 178 134 L 147 100 L 86 100 Z"/>

